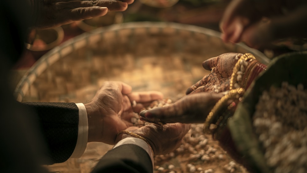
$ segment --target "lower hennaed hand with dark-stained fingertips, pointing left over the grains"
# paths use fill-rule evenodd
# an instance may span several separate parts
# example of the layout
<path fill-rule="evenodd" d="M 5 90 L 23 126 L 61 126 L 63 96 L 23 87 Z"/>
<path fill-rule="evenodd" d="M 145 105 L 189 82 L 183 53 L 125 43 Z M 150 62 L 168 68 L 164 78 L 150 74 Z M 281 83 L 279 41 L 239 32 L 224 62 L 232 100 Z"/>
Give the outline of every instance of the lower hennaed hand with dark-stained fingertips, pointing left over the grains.
<path fill-rule="evenodd" d="M 142 111 L 141 120 L 156 124 L 201 123 L 222 96 L 221 93 L 207 92 L 187 95 L 174 104 Z"/>

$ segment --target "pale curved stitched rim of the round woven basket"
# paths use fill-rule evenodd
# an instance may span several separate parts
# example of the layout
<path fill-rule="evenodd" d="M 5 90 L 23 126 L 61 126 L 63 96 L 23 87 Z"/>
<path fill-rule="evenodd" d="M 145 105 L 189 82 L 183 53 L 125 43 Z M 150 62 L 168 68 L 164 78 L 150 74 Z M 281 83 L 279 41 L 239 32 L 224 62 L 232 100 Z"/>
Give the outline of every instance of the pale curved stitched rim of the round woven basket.
<path fill-rule="evenodd" d="M 53 49 L 49 50 L 43 56 L 41 56 L 33 65 L 30 67 L 14 90 L 14 97 L 17 101 L 22 102 L 26 91 L 28 91 L 30 85 L 33 84 L 35 79 L 45 71 L 49 66 L 51 66 L 54 62 L 59 60 L 62 57 L 65 57 L 68 53 L 64 52 L 65 48 L 71 48 L 72 50 L 78 49 L 76 47 L 76 43 L 84 41 L 87 43 L 89 37 L 94 35 L 103 34 L 105 32 L 116 31 L 121 29 L 135 29 L 135 28 L 173 28 L 179 30 L 186 30 L 189 32 L 196 32 L 196 33 L 203 33 L 205 35 L 209 35 L 211 37 L 218 37 L 221 38 L 221 33 L 212 29 L 194 26 L 190 24 L 181 24 L 181 23 L 174 23 L 174 22 L 127 22 L 127 23 L 120 23 L 120 24 L 113 24 L 106 27 L 101 27 L 92 30 L 91 32 L 82 33 L 76 37 L 73 37 L 64 43 L 54 47 Z M 80 44 L 79 44 L 80 45 Z M 235 43 L 235 47 L 240 47 L 245 50 L 248 50 L 249 53 L 254 54 L 256 57 L 259 57 L 264 64 L 268 64 L 270 59 L 266 57 L 262 52 L 258 51 L 257 49 L 253 49 L 248 47 L 243 43 Z M 81 47 L 81 46 L 79 46 Z M 71 52 L 69 52 L 71 53 Z"/>

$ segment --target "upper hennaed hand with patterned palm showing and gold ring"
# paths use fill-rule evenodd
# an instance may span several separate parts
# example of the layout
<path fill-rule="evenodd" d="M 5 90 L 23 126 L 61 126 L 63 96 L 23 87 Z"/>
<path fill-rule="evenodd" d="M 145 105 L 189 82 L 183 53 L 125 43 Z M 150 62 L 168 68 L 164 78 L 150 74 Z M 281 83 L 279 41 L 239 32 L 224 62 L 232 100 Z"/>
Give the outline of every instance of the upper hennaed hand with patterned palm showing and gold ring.
<path fill-rule="evenodd" d="M 241 53 L 224 53 L 204 61 L 204 69 L 211 70 L 212 73 L 188 88 L 186 94 L 229 90 L 232 69 L 242 55 Z"/>

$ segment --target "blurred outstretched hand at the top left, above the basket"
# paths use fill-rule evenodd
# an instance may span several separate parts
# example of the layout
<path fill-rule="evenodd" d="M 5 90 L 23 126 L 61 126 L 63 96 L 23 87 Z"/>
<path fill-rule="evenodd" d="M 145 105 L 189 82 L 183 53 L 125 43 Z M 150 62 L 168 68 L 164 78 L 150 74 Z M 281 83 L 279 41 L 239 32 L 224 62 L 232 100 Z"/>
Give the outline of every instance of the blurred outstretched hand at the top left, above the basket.
<path fill-rule="evenodd" d="M 51 28 L 90 19 L 110 11 L 124 11 L 134 0 L 29 0 L 32 25 Z"/>

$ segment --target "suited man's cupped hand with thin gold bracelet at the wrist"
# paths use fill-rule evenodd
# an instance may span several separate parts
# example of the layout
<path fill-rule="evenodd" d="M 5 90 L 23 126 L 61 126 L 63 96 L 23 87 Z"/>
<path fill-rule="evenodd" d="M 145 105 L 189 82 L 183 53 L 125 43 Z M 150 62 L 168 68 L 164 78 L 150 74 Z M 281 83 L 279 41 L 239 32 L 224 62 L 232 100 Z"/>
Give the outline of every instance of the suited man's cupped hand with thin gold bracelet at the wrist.
<path fill-rule="evenodd" d="M 161 155 L 167 154 L 178 148 L 183 137 L 190 128 L 190 124 L 181 123 L 165 124 L 162 126 L 150 124 L 141 128 L 129 127 L 126 131 L 134 132 L 144 137 L 152 147 L 154 155 Z M 116 142 L 128 137 L 133 136 L 120 133 L 116 138 Z"/>

